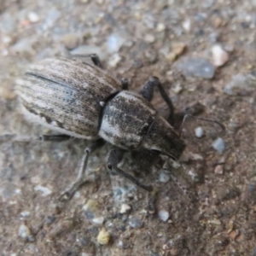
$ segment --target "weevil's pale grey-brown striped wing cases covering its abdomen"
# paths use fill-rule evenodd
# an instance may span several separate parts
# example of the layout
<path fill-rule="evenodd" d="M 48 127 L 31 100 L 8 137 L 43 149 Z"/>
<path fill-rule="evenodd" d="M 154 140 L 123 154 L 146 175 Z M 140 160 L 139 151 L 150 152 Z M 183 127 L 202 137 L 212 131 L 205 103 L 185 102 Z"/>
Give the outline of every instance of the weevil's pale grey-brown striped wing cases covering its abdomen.
<path fill-rule="evenodd" d="M 98 137 L 102 102 L 122 86 L 101 68 L 73 59 L 46 59 L 17 80 L 26 118 L 73 137 Z"/>

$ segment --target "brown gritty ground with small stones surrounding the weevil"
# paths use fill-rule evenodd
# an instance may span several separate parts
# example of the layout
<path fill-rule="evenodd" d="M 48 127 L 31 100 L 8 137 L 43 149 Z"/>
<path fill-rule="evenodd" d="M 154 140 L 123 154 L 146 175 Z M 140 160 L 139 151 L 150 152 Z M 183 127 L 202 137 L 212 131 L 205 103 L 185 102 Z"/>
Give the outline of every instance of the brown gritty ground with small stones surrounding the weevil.
<path fill-rule="evenodd" d="M 57 197 L 76 176 L 87 143 L 1 143 L 1 255 L 256 255 L 255 27 L 255 0 L 2 0 L 1 134 L 49 132 L 23 119 L 15 78 L 30 62 L 69 51 L 96 52 L 114 76 L 131 79 L 132 90 L 158 76 L 177 112 L 200 102 L 201 116 L 218 119 L 226 131 L 196 120 L 184 126 L 187 160 L 170 170 L 197 202 L 168 181 L 162 160 L 125 156 L 122 168 L 158 189 L 153 215 L 143 190 L 108 175 L 109 146 L 90 158 L 90 183 L 61 205 Z M 216 44 L 229 56 L 212 79 L 183 76 L 180 61 L 212 62 Z M 154 105 L 166 114 L 157 93 Z M 198 126 L 204 137 L 195 137 Z M 217 137 L 222 154 L 212 148 Z M 130 212 L 120 213 L 125 205 Z M 101 230 L 108 245 L 97 241 Z"/>

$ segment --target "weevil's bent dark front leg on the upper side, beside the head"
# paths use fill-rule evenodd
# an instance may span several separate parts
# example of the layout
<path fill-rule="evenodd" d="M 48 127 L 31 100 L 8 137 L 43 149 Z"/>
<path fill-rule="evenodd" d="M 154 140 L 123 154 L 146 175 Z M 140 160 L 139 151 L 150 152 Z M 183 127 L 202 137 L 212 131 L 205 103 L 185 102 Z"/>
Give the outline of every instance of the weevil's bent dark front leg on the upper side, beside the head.
<path fill-rule="evenodd" d="M 144 84 L 143 89 L 140 91 L 140 94 L 148 100 L 148 102 L 151 102 L 154 96 L 154 87 L 157 87 L 160 91 L 160 95 L 165 100 L 170 113 L 167 121 L 173 125 L 174 124 L 174 108 L 171 99 L 166 93 L 166 90 L 164 89 L 163 85 L 160 83 L 160 80 L 156 77 L 151 77 L 148 79 L 148 82 Z"/>

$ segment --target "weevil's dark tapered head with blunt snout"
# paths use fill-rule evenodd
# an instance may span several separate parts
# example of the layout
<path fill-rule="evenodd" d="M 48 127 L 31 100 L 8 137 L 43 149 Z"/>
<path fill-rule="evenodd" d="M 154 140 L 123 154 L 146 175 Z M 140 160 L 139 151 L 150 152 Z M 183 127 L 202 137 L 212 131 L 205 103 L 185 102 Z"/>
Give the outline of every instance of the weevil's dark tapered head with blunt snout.
<path fill-rule="evenodd" d="M 165 154 L 172 160 L 178 160 L 183 154 L 186 144 L 166 119 L 156 116 L 154 124 L 143 139 L 142 146 L 153 154 Z"/>

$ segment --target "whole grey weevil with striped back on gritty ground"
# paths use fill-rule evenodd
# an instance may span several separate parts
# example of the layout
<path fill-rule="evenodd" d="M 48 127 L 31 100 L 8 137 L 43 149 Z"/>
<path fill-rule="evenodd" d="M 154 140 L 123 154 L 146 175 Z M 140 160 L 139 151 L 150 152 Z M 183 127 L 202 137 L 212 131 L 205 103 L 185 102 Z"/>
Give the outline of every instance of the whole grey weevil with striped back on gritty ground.
<path fill-rule="evenodd" d="M 91 152 L 105 142 L 114 148 L 108 156 L 108 169 L 140 183 L 118 164 L 125 150 L 164 154 L 178 160 L 185 143 L 173 128 L 173 106 L 162 84 L 151 77 L 136 93 L 128 88 L 128 80 L 120 82 L 102 69 L 99 57 L 89 55 L 94 66 L 72 58 L 45 59 L 33 64 L 18 79 L 17 91 L 26 118 L 58 131 L 60 135 L 43 135 L 42 141 L 64 141 L 70 137 L 93 140 L 85 149 L 79 175 L 61 196 L 70 199 L 84 183 L 85 169 Z M 169 109 L 169 122 L 160 116 L 150 103 L 154 87 Z"/>

